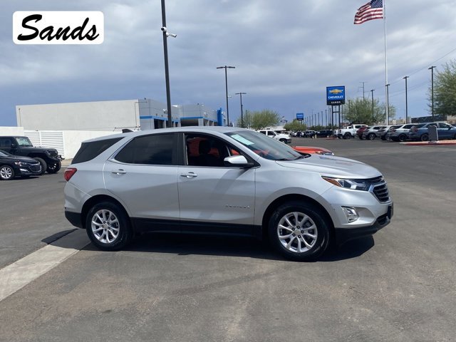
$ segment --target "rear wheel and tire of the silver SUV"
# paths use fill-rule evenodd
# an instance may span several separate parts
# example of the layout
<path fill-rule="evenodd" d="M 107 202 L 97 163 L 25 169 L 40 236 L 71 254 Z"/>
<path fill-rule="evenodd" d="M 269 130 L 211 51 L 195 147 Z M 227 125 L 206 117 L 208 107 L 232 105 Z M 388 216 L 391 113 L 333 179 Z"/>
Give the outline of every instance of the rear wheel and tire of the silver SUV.
<path fill-rule="evenodd" d="M 103 251 L 123 249 L 133 237 L 128 214 L 112 202 L 100 202 L 90 208 L 86 230 L 90 241 Z"/>

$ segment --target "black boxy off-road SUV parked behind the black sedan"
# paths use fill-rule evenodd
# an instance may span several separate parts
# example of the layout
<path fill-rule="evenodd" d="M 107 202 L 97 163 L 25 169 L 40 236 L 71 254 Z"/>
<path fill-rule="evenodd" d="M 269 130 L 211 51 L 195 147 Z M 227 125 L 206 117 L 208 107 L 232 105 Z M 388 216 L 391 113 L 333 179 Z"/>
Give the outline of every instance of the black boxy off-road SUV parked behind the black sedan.
<path fill-rule="evenodd" d="M 56 173 L 61 169 L 61 156 L 55 148 L 33 147 L 30 139 L 18 136 L 0 136 L 0 150 L 31 157 L 41 164 L 41 175 L 44 172 Z"/>

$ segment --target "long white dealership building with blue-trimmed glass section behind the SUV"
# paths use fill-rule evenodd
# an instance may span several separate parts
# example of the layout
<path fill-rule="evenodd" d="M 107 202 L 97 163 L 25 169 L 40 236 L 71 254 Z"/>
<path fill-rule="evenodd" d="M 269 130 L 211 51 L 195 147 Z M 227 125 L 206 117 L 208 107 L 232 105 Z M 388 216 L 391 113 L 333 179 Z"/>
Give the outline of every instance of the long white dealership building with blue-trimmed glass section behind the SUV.
<path fill-rule="evenodd" d="M 16 120 L 25 130 L 118 131 L 165 128 L 166 104 L 155 100 L 115 100 L 45 105 L 16 105 Z M 174 126 L 226 125 L 221 110 L 203 104 L 173 105 Z"/>

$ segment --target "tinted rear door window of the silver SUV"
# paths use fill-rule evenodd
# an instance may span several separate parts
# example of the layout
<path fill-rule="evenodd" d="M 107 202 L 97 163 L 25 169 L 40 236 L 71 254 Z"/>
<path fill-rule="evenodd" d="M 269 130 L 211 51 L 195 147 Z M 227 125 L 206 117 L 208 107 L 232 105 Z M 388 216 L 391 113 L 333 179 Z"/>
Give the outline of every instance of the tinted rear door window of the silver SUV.
<path fill-rule="evenodd" d="M 127 164 L 172 165 L 174 134 L 144 135 L 128 142 L 115 156 Z"/>

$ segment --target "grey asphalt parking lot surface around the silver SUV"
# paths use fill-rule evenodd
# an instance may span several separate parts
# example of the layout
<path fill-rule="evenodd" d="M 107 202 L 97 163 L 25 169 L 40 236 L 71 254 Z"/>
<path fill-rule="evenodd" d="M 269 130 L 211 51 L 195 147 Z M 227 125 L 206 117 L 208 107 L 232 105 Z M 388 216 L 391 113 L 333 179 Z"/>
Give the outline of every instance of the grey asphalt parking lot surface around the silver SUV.
<path fill-rule="evenodd" d="M 249 239 L 88 244 L 0 301 L 0 341 L 455 341 L 456 146 L 294 138 L 383 172 L 393 222 L 321 261 Z M 63 171 L 0 182 L 0 269 L 73 234 Z"/>

